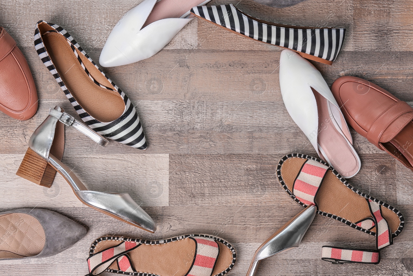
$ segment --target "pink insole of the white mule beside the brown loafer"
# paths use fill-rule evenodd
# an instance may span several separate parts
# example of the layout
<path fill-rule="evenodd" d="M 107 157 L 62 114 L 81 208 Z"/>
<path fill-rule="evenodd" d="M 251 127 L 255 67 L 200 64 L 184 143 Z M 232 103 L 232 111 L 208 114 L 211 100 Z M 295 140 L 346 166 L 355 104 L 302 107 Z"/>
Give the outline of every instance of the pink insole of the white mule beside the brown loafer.
<path fill-rule="evenodd" d="M 316 97 L 318 109 L 318 144 L 326 156 L 320 156 L 324 161 L 330 161 L 331 165 L 345 177 L 354 175 L 358 170 L 358 160 L 354 155 L 351 146 L 337 130 L 328 112 L 327 99 L 321 96 L 316 90 L 313 94 Z M 343 119 L 344 121 L 344 119 Z M 342 122 L 343 122 L 342 121 Z M 345 121 L 344 121 L 345 124 Z M 344 128 L 344 127 L 343 127 Z M 344 130 L 347 131 L 347 130 Z M 344 132 L 343 132 L 344 133 Z M 347 135 L 350 135 L 347 133 Z M 321 153 L 320 153 L 321 154 Z"/>

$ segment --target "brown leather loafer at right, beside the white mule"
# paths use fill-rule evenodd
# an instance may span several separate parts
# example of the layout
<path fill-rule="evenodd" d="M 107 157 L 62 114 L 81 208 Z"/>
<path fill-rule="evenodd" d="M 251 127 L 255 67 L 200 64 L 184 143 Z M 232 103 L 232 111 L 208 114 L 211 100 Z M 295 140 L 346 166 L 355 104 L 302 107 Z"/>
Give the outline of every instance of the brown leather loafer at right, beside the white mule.
<path fill-rule="evenodd" d="M 413 170 L 413 108 L 358 77 L 335 80 L 331 91 L 351 127 Z"/>

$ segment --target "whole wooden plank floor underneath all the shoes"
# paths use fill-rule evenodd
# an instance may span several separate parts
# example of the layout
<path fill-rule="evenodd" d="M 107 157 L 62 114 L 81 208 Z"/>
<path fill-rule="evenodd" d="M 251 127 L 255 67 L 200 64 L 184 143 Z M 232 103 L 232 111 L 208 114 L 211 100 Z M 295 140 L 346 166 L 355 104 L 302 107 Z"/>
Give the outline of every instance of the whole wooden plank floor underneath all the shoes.
<path fill-rule="evenodd" d="M 129 192 L 154 218 L 155 234 L 82 205 L 61 176 L 47 189 L 15 175 L 28 139 L 48 108 L 59 105 L 76 115 L 36 54 L 36 22 L 61 25 L 97 62 L 116 22 L 139 2 L 0 1 L 0 26 L 26 56 L 40 99 L 31 120 L 19 122 L 0 114 L 0 211 L 50 209 L 88 229 L 85 238 L 54 257 L 1 261 L 0 275 L 83 276 L 88 273 L 88 248 L 102 235 L 155 240 L 211 233 L 236 247 L 237 264 L 229 275 L 243 276 L 261 242 L 301 210 L 278 185 L 275 166 L 285 154 L 316 152 L 282 102 L 281 49 L 198 19 L 154 57 L 104 69 L 136 105 L 147 151 L 116 142 L 103 148 L 75 130 L 66 132 L 64 162 L 91 190 Z M 363 77 L 413 104 L 410 0 L 308 0 L 284 9 L 252 0 L 233 3 L 273 22 L 346 27 L 337 62 L 314 63 L 327 83 L 343 75 Z M 320 259 L 321 246 L 373 249 L 374 238 L 317 216 L 298 249 L 266 259 L 257 275 L 413 275 L 413 173 L 353 130 L 351 134 L 362 167 L 350 182 L 399 209 L 406 219 L 403 232 L 382 250 L 379 265 L 334 265 Z"/>

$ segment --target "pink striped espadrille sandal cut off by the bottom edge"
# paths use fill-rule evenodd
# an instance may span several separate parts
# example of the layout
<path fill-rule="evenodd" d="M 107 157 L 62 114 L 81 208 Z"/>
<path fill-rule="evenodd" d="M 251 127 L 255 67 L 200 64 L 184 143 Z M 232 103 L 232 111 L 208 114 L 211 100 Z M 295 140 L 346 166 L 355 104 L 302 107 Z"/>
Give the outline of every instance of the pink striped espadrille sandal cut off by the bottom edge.
<path fill-rule="evenodd" d="M 108 236 L 92 243 L 87 275 L 108 271 L 133 276 L 223 276 L 236 259 L 229 242 L 211 235 L 152 241 Z"/>

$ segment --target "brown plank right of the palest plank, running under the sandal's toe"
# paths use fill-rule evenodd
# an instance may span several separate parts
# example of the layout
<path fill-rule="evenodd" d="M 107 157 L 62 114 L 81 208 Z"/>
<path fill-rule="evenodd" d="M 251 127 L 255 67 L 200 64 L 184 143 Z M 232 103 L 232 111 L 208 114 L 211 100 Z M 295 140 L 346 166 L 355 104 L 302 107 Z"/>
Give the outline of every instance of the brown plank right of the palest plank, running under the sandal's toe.
<path fill-rule="evenodd" d="M 276 166 L 282 155 L 225 154 L 178 155 L 169 161 L 170 205 L 208 205 L 221 198 L 221 204 L 278 206 L 292 202 L 276 180 Z M 349 182 L 354 187 L 391 205 L 397 201 L 395 187 L 402 184 L 390 158 L 363 155 L 362 169 Z M 386 183 L 382 185 L 382 183 Z M 220 201 L 220 202 L 221 202 Z"/>

